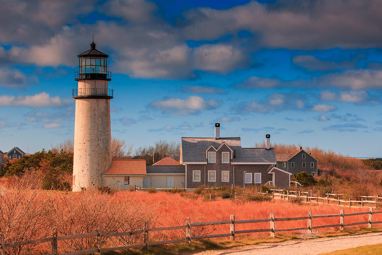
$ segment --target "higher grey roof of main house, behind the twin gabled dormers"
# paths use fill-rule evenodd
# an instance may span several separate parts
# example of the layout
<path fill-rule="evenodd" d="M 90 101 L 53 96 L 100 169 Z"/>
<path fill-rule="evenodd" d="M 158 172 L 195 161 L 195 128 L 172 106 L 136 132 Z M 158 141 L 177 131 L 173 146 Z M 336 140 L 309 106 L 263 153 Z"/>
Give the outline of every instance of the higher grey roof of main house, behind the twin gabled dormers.
<path fill-rule="evenodd" d="M 206 160 L 205 150 L 209 146 L 218 148 L 225 142 L 232 150 L 241 149 L 240 137 L 182 137 L 181 149 L 183 162 L 202 162 Z"/>

